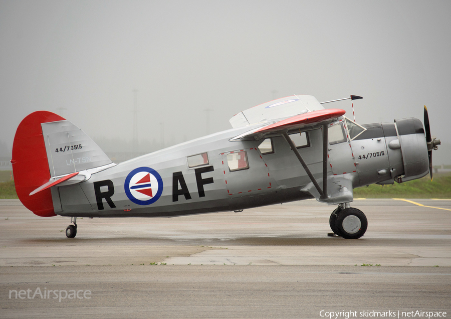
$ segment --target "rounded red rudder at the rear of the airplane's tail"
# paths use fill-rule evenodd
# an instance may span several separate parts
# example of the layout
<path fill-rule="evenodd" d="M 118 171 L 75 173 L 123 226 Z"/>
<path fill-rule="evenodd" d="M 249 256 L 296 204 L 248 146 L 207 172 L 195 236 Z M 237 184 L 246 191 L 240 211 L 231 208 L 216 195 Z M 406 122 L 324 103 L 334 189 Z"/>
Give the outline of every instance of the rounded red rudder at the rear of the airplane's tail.
<path fill-rule="evenodd" d="M 49 161 L 41 123 L 64 120 L 47 111 L 31 113 L 17 128 L 13 143 L 13 173 L 17 196 L 22 204 L 42 217 L 56 216 L 50 189 L 29 194 L 50 180 Z"/>

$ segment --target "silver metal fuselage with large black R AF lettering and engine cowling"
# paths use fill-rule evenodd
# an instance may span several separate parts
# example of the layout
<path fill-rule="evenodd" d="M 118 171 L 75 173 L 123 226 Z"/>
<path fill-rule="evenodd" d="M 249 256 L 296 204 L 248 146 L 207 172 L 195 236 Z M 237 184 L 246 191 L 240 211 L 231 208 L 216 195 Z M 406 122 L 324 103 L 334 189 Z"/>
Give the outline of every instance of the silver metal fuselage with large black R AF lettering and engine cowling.
<path fill-rule="evenodd" d="M 211 134 L 111 166 L 92 174 L 87 181 L 53 187 L 55 214 L 171 217 L 319 198 L 282 136 L 272 137 L 273 152 L 267 154 L 258 147 L 262 140 L 231 141 L 259 125 Z M 331 199 L 324 201 L 329 205 L 352 201 L 352 189 L 356 187 L 402 182 L 428 173 L 424 131 L 417 119 L 364 126 L 367 130 L 353 140 L 347 136 L 345 141 L 329 144 L 327 183 Z M 299 152 L 315 179 L 321 181 L 321 128 L 309 130 L 308 139 L 309 145 Z M 228 154 L 240 151 L 246 151 L 248 168 L 231 171 Z M 190 168 L 187 156 L 204 152 L 208 163 Z M 161 177 L 158 198 L 152 203 L 130 200 L 130 174 L 139 168 L 151 169 Z M 352 187 L 344 188 L 342 181 Z"/>

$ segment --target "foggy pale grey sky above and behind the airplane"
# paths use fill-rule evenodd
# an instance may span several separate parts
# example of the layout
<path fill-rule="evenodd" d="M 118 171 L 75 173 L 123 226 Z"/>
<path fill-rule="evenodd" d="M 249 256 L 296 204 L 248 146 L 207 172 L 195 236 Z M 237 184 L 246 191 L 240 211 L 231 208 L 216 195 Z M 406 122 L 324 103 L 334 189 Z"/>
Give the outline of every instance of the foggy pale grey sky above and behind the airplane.
<path fill-rule="evenodd" d="M 0 1 L 0 141 L 49 110 L 94 140 L 182 142 L 293 94 L 361 95 L 357 122 L 423 119 L 451 164 L 449 1 Z M 343 108 L 349 101 L 327 104 Z M 67 110 L 58 110 L 66 108 Z M 10 156 L 10 154 L 0 154 Z"/>

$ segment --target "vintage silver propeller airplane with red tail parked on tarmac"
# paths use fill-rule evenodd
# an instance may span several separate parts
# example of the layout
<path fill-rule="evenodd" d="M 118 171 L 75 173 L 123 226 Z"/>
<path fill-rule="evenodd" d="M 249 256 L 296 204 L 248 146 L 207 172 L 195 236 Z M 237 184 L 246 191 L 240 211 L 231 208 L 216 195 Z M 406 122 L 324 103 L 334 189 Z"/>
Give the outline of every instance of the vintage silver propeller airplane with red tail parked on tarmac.
<path fill-rule="evenodd" d="M 346 99 L 359 99 L 351 95 Z M 338 100 L 334 100 L 338 101 Z M 332 231 L 367 229 L 353 189 L 432 178 L 427 110 L 416 118 L 359 125 L 313 96 L 280 98 L 233 116 L 233 129 L 114 164 L 81 129 L 38 111 L 19 125 L 13 172 L 21 202 L 38 216 L 173 217 L 316 198 L 338 205 Z"/>

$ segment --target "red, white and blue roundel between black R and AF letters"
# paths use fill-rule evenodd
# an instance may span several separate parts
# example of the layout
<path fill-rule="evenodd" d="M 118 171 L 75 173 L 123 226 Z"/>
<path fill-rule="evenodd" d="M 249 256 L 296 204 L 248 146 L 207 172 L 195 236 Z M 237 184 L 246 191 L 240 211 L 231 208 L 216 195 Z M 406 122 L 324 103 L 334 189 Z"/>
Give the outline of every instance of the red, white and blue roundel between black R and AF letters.
<path fill-rule="evenodd" d="M 157 171 L 140 167 L 131 171 L 124 184 L 128 199 L 138 205 L 155 203 L 163 193 L 163 180 Z"/>

